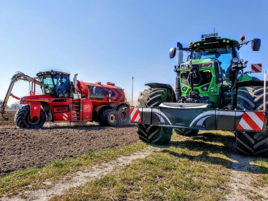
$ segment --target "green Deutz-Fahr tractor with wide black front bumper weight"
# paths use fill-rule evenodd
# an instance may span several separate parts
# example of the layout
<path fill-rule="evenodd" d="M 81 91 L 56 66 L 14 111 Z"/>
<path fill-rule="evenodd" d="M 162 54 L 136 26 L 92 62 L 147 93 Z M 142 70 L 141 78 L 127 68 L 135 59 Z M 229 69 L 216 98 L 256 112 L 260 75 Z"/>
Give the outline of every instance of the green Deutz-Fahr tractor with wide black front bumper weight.
<path fill-rule="evenodd" d="M 180 135 L 195 136 L 199 130 L 233 131 L 239 154 L 268 155 L 266 98 L 267 83 L 248 75 L 261 72 L 261 64 L 239 57 L 240 48 L 251 43 L 260 49 L 260 39 L 241 41 L 218 37 L 218 33 L 202 35 L 202 40 L 189 47 L 177 43 L 169 57 L 177 51 L 174 66 L 176 84 L 149 83 L 140 93 L 139 107 L 131 107 L 131 122 L 144 142 L 166 144 L 172 130 Z M 183 62 L 183 51 L 189 53 Z M 265 94 L 265 95 L 264 95 Z M 265 104 L 264 104 L 265 103 Z"/>

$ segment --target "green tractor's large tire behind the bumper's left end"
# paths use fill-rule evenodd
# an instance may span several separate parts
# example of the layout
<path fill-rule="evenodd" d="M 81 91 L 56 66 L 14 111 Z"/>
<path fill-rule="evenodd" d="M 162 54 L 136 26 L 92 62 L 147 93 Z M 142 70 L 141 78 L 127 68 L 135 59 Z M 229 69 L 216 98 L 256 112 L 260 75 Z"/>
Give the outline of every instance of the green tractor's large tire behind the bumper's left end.
<path fill-rule="evenodd" d="M 172 102 L 172 94 L 165 88 L 150 88 L 140 93 L 139 107 L 157 107 L 163 102 Z M 167 144 L 172 136 L 172 128 L 147 124 L 135 124 L 139 138 L 148 143 Z"/>

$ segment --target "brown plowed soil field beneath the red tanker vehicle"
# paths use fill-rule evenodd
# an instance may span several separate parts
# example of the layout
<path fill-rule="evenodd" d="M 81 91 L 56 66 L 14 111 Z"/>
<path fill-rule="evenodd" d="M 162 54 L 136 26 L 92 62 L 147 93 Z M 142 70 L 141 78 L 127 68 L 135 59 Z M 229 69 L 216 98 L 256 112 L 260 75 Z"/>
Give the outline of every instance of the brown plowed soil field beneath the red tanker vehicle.
<path fill-rule="evenodd" d="M 9 121 L 0 119 L 0 176 L 33 166 L 43 167 L 53 159 L 117 148 L 139 140 L 135 126 L 55 127 L 45 123 L 41 129 L 19 129 L 14 123 L 15 112 L 5 115 Z"/>

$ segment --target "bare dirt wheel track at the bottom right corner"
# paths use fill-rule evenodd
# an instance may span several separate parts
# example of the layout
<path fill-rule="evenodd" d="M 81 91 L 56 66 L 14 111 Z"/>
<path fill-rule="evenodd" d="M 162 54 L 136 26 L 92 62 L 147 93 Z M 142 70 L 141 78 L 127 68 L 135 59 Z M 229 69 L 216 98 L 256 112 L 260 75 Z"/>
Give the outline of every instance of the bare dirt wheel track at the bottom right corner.
<path fill-rule="evenodd" d="M 249 197 L 261 195 L 262 198 L 259 201 L 268 200 L 268 189 L 263 187 L 252 187 L 250 182 L 252 180 L 252 174 L 250 169 L 254 166 L 250 164 L 252 158 L 244 157 L 240 155 L 231 155 L 233 159 L 230 169 L 230 193 L 225 195 L 227 201 L 249 201 L 253 200 Z M 258 174 L 255 174 L 258 176 Z"/>

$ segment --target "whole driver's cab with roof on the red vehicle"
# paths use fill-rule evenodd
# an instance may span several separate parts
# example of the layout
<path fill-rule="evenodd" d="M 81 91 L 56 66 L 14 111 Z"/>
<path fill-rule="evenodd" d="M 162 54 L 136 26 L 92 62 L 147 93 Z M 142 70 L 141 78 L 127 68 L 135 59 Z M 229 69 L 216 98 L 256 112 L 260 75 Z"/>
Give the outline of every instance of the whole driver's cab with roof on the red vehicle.
<path fill-rule="evenodd" d="M 53 98 L 70 97 L 70 74 L 59 71 L 45 71 L 36 74 L 42 83 L 44 94 L 50 94 Z"/>

